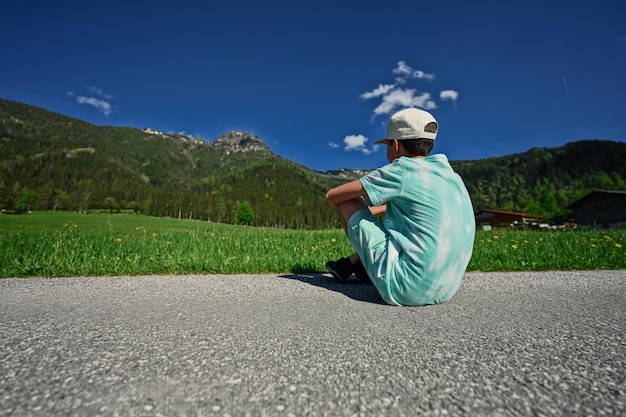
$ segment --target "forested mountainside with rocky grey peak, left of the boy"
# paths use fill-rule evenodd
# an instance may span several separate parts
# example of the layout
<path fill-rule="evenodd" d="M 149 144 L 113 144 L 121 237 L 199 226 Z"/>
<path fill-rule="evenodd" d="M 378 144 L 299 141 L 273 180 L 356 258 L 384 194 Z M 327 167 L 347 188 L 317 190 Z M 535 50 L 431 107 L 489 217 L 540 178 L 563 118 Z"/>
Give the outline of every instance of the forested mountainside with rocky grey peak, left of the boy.
<path fill-rule="evenodd" d="M 94 126 L 0 100 L 3 211 L 132 209 L 316 229 L 339 226 L 324 194 L 343 181 L 273 154 L 249 133 L 228 132 L 207 142 Z M 242 206 L 252 209 L 252 219 L 241 215 Z"/>

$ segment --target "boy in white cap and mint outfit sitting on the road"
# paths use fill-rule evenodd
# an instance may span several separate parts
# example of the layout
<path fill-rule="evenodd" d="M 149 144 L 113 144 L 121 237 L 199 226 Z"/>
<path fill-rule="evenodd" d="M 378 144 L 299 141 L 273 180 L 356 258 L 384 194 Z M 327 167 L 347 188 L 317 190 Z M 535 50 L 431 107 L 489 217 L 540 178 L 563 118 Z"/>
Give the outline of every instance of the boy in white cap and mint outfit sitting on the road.
<path fill-rule="evenodd" d="M 369 276 L 388 304 L 449 300 L 472 256 L 475 220 L 465 184 L 445 155 L 429 156 L 437 130 L 426 111 L 395 113 L 376 142 L 387 145 L 389 164 L 326 194 L 356 249 L 329 261 L 329 272 L 340 281 Z M 382 213 L 380 222 L 375 216 Z"/>

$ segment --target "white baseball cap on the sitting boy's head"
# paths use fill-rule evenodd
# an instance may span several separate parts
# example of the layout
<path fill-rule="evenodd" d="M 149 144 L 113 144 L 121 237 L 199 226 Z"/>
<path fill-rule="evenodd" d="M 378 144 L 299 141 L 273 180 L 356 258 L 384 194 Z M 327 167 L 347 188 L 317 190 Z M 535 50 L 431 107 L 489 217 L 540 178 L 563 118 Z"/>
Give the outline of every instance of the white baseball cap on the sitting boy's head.
<path fill-rule="evenodd" d="M 374 143 L 390 139 L 435 139 L 439 125 L 432 114 L 411 107 L 394 113 L 387 124 L 387 136 Z"/>

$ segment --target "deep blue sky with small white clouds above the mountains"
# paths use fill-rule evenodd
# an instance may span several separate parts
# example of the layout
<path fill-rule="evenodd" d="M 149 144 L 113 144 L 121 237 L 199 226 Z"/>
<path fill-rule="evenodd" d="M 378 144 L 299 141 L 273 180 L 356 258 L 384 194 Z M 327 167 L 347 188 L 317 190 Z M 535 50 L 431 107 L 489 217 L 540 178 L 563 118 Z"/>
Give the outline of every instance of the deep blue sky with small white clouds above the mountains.
<path fill-rule="evenodd" d="M 475 160 L 626 140 L 626 2 L 5 2 L 0 98 L 213 141 L 253 132 L 312 169 L 374 168 L 390 113 Z"/>

